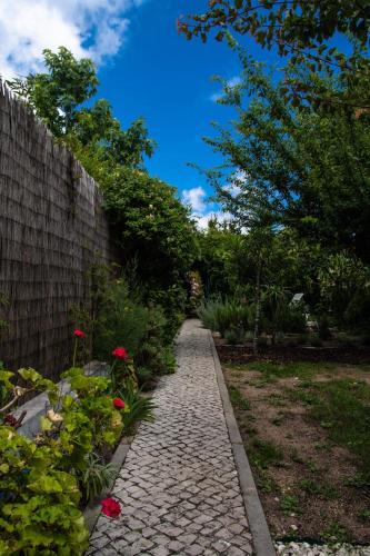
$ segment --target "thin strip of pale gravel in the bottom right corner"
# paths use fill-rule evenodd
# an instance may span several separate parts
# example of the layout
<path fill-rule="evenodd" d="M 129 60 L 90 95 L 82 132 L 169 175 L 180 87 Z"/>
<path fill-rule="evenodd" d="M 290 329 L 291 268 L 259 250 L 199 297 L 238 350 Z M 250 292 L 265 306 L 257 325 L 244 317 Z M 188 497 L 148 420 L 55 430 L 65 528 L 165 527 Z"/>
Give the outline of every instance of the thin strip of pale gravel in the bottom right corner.
<path fill-rule="evenodd" d="M 281 556 L 370 556 L 370 546 L 349 544 L 309 545 L 308 543 L 276 543 L 277 554 Z"/>

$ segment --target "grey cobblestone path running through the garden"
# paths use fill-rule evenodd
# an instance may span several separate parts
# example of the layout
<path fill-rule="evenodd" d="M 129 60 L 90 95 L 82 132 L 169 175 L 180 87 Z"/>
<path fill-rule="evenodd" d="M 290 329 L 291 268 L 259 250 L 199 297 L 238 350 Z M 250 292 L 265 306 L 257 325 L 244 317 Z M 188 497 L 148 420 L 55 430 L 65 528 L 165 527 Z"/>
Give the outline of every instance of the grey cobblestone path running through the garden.
<path fill-rule="evenodd" d="M 116 480 L 122 515 L 101 515 L 89 555 L 252 554 L 222 410 L 209 332 L 184 322 L 179 368 L 154 393 L 156 421 L 142 424 Z"/>

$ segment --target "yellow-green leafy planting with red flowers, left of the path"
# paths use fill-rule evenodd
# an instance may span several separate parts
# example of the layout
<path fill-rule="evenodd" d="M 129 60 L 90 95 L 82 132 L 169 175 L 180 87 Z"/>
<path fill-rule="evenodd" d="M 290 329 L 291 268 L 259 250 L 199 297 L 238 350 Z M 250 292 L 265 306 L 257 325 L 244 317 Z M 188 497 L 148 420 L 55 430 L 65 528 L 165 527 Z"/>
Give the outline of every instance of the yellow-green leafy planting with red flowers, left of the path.
<path fill-rule="evenodd" d="M 116 348 L 109 377 L 76 367 L 84 332 L 74 331 L 73 367 L 64 393 L 34 369 L 0 369 L 0 554 L 83 554 L 88 543 L 81 507 L 110 488 L 117 469 L 110 454 L 122 433 L 153 419 L 153 403 L 138 390 L 132 359 Z M 46 391 L 49 408 L 36 439 L 17 433 L 16 404 Z"/>

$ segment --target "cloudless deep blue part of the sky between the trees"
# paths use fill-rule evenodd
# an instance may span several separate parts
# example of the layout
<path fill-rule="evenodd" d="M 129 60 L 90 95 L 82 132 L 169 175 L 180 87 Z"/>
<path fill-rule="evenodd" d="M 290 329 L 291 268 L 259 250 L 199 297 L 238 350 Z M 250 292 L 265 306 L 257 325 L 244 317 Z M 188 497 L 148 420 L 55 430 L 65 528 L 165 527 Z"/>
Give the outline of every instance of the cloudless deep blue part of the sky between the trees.
<path fill-rule="evenodd" d="M 177 17 L 196 12 L 202 4 L 200 0 L 148 1 L 136 11 L 121 53 L 99 71 L 99 93 L 112 102 L 122 125 L 127 127 L 137 116 L 146 118 L 158 142 L 147 162 L 149 171 L 180 192 L 196 189 L 201 193 L 200 187 L 211 192 L 204 177 L 188 162 L 209 168 L 220 161 L 202 137 L 213 133 L 210 121 L 224 122 L 233 112 L 212 99 L 220 86 L 211 77 L 232 79 L 240 71 L 238 58 L 226 43 L 209 40 L 204 44 L 178 34 Z M 277 62 L 252 41 L 249 48 L 259 59 Z"/>

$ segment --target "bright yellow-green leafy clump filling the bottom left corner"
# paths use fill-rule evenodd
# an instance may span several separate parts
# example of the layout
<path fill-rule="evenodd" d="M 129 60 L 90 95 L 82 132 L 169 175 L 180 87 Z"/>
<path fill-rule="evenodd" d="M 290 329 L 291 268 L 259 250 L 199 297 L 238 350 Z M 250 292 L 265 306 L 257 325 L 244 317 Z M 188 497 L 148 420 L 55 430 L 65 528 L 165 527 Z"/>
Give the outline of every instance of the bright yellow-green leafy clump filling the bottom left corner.
<path fill-rule="evenodd" d="M 83 554 L 88 530 L 60 454 L 0 426 L 0 554 Z"/>

